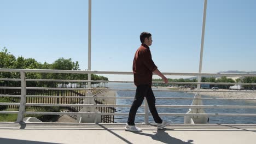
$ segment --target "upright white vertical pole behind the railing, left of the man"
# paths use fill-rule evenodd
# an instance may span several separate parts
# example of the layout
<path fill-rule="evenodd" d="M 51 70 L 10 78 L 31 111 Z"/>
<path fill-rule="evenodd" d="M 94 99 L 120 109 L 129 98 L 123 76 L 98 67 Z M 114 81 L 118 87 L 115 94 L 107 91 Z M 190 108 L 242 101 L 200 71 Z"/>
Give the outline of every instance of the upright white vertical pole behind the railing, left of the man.
<path fill-rule="evenodd" d="M 88 70 L 91 70 L 91 0 L 88 1 Z M 88 74 L 88 80 L 91 80 L 91 74 Z M 88 82 L 88 88 L 91 88 L 91 82 Z"/>

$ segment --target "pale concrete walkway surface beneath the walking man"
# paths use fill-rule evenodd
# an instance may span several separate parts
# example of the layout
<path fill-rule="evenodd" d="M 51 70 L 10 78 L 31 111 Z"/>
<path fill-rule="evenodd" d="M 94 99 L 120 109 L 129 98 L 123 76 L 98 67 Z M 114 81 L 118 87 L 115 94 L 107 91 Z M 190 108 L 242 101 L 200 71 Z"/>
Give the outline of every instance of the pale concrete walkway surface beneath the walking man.
<path fill-rule="evenodd" d="M 0 143 L 173 143 L 254 144 L 256 124 L 171 124 L 157 130 L 140 125 L 141 133 L 124 130 L 125 124 L 0 123 Z"/>

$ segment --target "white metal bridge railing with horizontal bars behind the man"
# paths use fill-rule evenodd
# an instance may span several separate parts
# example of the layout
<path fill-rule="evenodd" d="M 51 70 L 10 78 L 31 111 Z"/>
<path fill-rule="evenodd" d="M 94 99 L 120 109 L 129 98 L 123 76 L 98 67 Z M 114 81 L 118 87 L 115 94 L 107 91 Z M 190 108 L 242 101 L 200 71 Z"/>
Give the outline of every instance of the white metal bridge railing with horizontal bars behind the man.
<path fill-rule="evenodd" d="M 21 89 L 21 95 L 8 95 L 0 94 L 0 97 L 20 97 L 20 103 L 0 103 L 0 105 L 16 105 L 19 106 L 19 111 L 0 111 L 0 113 L 18 113 L 17 121 L 18 123 L 23 121 L 24 115 L 33 114 L 33 115 L 110 115 L 110 116 L 123 116 L 129 115 L 129 113 L 103 113 L 103 112 L 32 112 L 25 111 L 26 106 L 86 106 L 86 107 L 130 107 L 131 105 L 103 105 L 103 104 L 43 104 L 43 103 L 26 103 L 26 98 L 31 97 L 41 97 L 41 98 L 52 98 L 52 96 L 46 95 L 27 95 L 27 89 L 52 89 L 52 90 L 85 90 L 91 93 L 95 88 L 54 88 L 54 87 L 27 87 L 26 81 L 47 81 L 47 82 L 132 82 L 132 81 L 91 81 L 91 80 L 49 80 L 49 79 L 26 79 L 26 73 L 66 73 L 66 74 L 115 74 L 115 75 L 132 75 L 131 72 L 121 72 L 121 71 L 78 71 L 78 70 L 39 70 L 39 69 L 0 69 L 0 72 L 18 72 L 20 73 L 20 79 L 0 79 L 0 81 L 20 81 L 21 87 L 0 87 L 0 89 Z M 216 74 L 216 73 L 163 73 L 164 75 L 179 75 L 179 76 L 256 76 L 256 74 Z M 162 82 L 155 82 L 162 83 Z M 226 82 L 168 82 L 173 84 L 210 84 L 210 85 L 256 85 L 256 83 L 226 83 Z M 135 91 L 135 89 L 111 89 L 111 88 L 96 88 L 101 91 Z M 255 93 L 256 91 L 206 91 L 206 90 L 170 90 L 170 89 L 154 89 L 153 91 L 165 91 L 165 92 L 228 92 L 228 93 Z M 86 95 L 83 99 L 133 99 L 133 97 L 96 97 L 96 95 L 91 96 Z M 54 96 L 54 98 L 81 98 L 77 96 Z M 156 97 L 156 99 L 182 99 L 182 100 L 193 100 L 193 99 L 203 99 L 203 100 L 218 100 L 218 99 L 231 99 L 234 100 L 237 98 L 170 98 L 170 97 Z M 255 98 L 240 98 L 240 100 L 256 100 Z M 138 116 L 145 117 L 145 123 L 148 124 L 149 112 L 147 101 L 145 100 L 144 113 L 137 113 Z M 234 108 L 243 108 L 243 109 L 256 109 L 256 106 L 237 106 L 237 105 L 156 105 L 156 107 L 166 107 L 166 108 L 212 108 L 212 109 L 234 109 Z M 160 116 L 253 116 L 256 114 L 252 113 L 159 113 Z"/>

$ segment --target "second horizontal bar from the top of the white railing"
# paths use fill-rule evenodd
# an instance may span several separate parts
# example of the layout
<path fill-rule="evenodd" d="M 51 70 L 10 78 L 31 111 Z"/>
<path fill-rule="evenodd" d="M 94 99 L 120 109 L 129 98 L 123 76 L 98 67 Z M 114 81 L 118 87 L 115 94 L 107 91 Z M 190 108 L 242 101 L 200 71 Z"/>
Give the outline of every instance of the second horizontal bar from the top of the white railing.
<path fill-rule="evenodd" d="M 20 79 L 0 79 L 0 81 L 20 81 Z M 118 83 L 133 83 L 133 81 L 93 81 L 93 80 L 53 80 L 53 79 L 26 79 L 26 81 L 47 81 L 47 82 L 118 82 Z M 152 83 L 164 83 L 162 81 L 152 81 Z M 210 85 L 256 85 L 256 83 L 242 82 L 168 82 L 173 84 L 210 84 Z"/>

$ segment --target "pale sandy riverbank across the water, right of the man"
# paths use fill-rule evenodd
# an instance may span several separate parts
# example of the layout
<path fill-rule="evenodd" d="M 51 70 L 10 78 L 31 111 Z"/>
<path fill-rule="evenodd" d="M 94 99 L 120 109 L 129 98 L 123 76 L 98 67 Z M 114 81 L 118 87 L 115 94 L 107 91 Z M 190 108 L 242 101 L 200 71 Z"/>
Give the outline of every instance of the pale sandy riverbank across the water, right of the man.
<path fill-rule="evenodd" d="M 158 89 L 179 89 L 179 88 L 170 88 L 170 87 L 161 87 Z M 190 89 L 181 89 L 181 90 L 190 90 Z M 220 97 L 220 98 L 255 98 L 256 99 L 256 91 L 253 93 L 247 93 L 246 90 L 243 91 L 230 91 L 228 89 L 219 89 L 219 90 L 211 90 L 211 89 L 201 89 L 202 91 L 209 92 L 200 92 L 201 95 L 209 95 L 212 97 Z M 210 92 L 211 91 L 211 92 Z M 225 92 L 220 92 L 225 91 Z M 188 93 L 196 93 L 196 92 L 188 92 Z"/>

